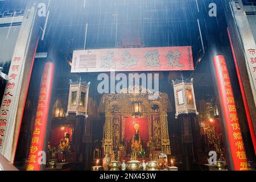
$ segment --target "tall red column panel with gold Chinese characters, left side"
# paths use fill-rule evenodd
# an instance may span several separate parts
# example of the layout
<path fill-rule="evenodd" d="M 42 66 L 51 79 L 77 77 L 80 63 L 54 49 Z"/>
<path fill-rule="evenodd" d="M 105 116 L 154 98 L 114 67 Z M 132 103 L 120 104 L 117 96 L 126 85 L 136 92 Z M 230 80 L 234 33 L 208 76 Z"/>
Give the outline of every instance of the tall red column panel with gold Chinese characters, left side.
<path fill-rule="evenodd" d="M 53 82 L 54 64 L 46 63 L 44 65 L 43 76 L 40 86 L 40 94 L 38 107 L 36 109 L 36 118 L 34 131 L 28 155 L 27 171 L 39 171 L 40 162 L 44 148 L 44 136 L 46 133 L 47 118 L 49 112 L 49 104 L 51 98 L 52 82 Z"/>

